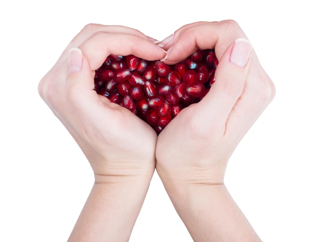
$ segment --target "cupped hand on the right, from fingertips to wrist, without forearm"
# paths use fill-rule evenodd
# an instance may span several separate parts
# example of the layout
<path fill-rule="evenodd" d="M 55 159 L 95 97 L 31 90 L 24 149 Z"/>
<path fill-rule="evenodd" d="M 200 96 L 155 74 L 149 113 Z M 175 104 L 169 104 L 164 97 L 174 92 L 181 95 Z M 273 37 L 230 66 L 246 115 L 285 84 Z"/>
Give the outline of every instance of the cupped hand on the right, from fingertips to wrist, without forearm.
<path fill-rule="evenodd" d="M 163 181 L 223 184 L 231 154 L 273 99 L 274 84 L 235 21 L 188 24 L 160 46 L 167 49 L 168 64 L 198 48 L 215 48 L 219 64 L 208 94 L 159 134 L 157 172 Z"/>

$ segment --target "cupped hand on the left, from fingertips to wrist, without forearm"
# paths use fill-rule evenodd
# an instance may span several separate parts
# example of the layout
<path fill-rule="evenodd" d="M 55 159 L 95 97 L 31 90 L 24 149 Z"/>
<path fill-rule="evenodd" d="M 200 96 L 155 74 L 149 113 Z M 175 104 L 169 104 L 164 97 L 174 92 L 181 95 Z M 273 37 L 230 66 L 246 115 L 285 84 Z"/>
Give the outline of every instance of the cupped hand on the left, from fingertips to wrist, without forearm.
<path fill-rule="evenodd" d="M 42 78 L 40 96 L 78 143 L 96 179 L 153 174 L 155 131 L 94 90 L 95 70 L 110 54 L 156 60 L 165 51 L 138 30 L 89 24 Z"/>

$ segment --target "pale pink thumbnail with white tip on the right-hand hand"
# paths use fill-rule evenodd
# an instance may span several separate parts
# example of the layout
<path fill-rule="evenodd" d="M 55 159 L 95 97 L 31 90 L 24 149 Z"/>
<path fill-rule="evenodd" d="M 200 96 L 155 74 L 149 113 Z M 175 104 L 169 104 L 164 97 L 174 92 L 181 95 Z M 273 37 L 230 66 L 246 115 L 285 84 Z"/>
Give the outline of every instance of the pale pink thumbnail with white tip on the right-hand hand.
<path fill-rule="evenodd" d="M 251 53 L 251 44 L 246 38 L 238 38 L 235 40 L 230 61 L 239 67 L 245 67 Z"/>

